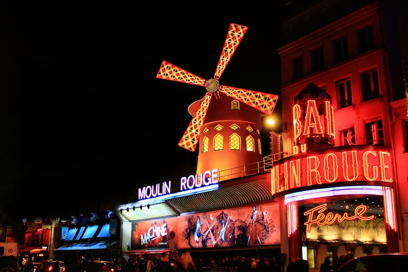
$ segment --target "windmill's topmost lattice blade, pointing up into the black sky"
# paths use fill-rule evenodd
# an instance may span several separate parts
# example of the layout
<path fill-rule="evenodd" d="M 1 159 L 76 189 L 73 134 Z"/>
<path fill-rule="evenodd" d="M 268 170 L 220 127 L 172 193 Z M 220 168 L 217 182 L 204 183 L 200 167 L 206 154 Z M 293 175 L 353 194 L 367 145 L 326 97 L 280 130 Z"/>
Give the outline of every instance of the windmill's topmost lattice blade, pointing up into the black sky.
<path fill-rule="evenodd" d="M 215 71 L 214 78 L 219 79 L 225 70 L 226 65 L 230 62 L 231 57 L 234 55 L 239 43 L 245 35 L 247 26 L 234 24 L 230 25 L 230 30 L 226 35 L 224 47 L 222 48 L 221 56 L 218 61 L 217 70 Z"/>

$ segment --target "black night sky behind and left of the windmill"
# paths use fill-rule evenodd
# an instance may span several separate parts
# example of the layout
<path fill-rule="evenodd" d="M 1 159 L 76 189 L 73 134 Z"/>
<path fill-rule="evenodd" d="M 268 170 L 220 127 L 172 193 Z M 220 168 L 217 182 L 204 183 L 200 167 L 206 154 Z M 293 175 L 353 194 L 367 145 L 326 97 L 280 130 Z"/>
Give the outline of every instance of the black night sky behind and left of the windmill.
<path fill-rule="evenodd" d="M 74 3 L 0 7 L 1 182 L 21 207 L 193 174 L 198 153 L 177 144 L 205 88 L 156 74 L 166 60 L 212 78 L 231 23 L 248 31 L 220 83 L 279 94 L 279 7 Z"/>

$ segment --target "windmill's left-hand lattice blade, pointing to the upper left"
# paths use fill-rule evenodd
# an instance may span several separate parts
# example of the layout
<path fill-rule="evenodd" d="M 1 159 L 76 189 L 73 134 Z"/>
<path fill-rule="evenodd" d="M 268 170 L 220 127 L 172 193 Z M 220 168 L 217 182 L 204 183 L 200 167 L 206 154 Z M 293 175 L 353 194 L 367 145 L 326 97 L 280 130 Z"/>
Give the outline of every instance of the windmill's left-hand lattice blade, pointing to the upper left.
<path fill-rule="evenodd" d="M 162 62 L 157 78 L 184 82 L 193 85 L 206 86 L 207 80 L 192 74 L 166 61 Z"/>

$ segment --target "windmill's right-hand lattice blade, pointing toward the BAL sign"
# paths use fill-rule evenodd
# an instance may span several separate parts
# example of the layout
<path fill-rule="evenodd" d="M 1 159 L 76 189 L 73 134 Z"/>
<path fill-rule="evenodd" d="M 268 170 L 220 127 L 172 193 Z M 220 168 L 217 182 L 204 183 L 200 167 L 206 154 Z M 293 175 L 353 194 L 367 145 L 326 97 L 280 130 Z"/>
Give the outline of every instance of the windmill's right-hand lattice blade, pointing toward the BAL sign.
<path fill-rule="evenodd" d="M 220 86 L 219 91 L 268 115 L 273 112 L 278 98 L 278 95 L 275 94 L 267 94 L 223 85 Z"/>

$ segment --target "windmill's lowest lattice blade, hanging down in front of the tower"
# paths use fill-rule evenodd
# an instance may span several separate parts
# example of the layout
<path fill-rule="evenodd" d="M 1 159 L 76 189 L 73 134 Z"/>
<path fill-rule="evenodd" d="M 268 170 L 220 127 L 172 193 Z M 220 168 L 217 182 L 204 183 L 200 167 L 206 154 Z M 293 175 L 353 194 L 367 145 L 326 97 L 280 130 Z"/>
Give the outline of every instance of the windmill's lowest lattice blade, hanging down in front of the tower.
<path fill-rule="evenodd" d="M 190 150 L 195 151 L 195 147 L 198 143 L 198 138 L 200 135 L 200 128 L 206 119 L 206 114 L 208 110 L 208 105 L 210 104 L 212 93 L 207 92 L 206 95 L 202 98 L 201 104 L 198 107 L 198 110 L 191 120 L 189 126 L 183 134 L 182 139 L 179 142 L 179 146 Z"/>

